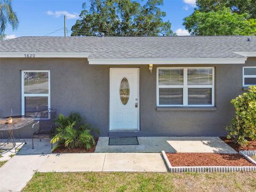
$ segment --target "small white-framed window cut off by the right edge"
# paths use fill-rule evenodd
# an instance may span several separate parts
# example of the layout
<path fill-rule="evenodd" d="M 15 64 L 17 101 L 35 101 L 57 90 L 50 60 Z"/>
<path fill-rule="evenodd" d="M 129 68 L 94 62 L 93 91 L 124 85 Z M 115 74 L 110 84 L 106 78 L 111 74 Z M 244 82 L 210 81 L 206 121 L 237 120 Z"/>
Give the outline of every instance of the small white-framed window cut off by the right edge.
<path fill-rule="evenodd" d="M 256 67 L 243 67 L 243 86 L 256 85 Z"/>

